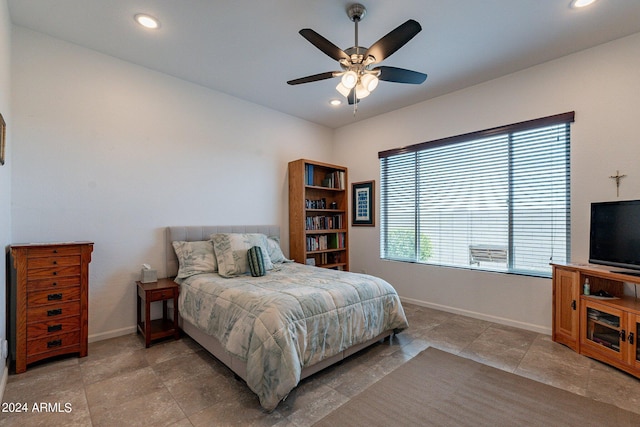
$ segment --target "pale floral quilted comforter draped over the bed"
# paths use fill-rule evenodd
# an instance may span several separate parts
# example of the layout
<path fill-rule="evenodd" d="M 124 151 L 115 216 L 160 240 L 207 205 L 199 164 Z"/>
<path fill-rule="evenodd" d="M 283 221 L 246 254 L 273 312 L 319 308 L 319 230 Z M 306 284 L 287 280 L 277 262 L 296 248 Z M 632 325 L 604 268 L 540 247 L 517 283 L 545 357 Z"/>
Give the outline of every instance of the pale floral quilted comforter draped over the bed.
<path fill-rule="evenodd" d="M 192 276 L 181 285 L 179 310 L 247 362 L 247 384 L 269 411 L 304 367 L 408 326 L 386 281 L 297 263 L 262 277 Z"/>

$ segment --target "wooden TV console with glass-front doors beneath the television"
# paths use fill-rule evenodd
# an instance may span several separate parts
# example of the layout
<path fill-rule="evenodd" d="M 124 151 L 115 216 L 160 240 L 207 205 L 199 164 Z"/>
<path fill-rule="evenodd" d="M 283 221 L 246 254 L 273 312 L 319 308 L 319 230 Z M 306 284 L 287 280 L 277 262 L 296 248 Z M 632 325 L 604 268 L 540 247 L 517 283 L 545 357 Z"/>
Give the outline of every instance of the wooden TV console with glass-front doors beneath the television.
<path fill-rule="evenodd" d="M 552 264 L 552 339 L 640 378 L 640 299 L 624 295 L 636 272 L 589 264 Z M 590 295 L 584 295 L 589 279 Z M 614 298 L 597 297 L 606 291 Z"/>

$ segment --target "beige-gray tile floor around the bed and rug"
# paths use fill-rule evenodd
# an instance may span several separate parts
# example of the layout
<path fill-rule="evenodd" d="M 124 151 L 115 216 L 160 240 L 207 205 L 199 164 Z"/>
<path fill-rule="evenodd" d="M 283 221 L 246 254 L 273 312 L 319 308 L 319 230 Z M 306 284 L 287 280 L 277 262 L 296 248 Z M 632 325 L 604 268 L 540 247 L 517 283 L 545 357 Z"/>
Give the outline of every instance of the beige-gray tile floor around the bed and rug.
<path fill-rule="evenodd" d="M 307 426 L 429 346 L 640 413 L 640 380 L 547 335 L 411 304 L 405 311 L 410 329 L 303 380 L 270 414 L 188 337 L 145 349 L 132 334 L 10 376 L 4 402 L 29 412 L 0 413 L 0 426 Z M 48 413 L 33 412 L 41 403 Z"/>

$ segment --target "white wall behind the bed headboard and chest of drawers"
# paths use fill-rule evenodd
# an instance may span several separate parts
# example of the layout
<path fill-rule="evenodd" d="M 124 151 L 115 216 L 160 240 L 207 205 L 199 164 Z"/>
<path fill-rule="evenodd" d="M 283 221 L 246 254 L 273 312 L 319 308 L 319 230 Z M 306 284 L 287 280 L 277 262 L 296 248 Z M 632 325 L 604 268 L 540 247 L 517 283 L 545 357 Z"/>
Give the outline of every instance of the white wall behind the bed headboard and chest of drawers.
<path fill-rule="evenodd" d="M 287 163 L 330 160 L 331 130 L 22 27 L 13 49 L 13 241 L 95 242 L 90 340 L 134 330 L 168 225 L 280 224 L 288 248 Z"/>

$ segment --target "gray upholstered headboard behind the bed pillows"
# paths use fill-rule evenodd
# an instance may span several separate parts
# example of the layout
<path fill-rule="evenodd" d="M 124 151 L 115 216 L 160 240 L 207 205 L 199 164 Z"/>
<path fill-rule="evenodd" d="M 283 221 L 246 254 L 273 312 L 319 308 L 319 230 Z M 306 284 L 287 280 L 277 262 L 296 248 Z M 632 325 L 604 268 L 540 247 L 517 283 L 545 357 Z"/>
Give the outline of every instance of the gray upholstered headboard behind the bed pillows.
<path fill-rule="evenodd" d="M 165 234 L 165 262 L 167 277 L 174 277 L 178 274 L 178 258 L 173 250 L 172 242 L 194 242 L 198 240 L 209 240 L 209 236 L 214 233 L 262 233 L 267 236 L 280 237 L 279 225 L 204 225 L 204 226 L 175 226 L 167 227 Z"/>

